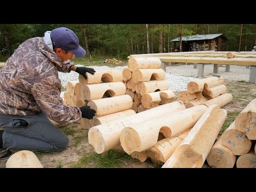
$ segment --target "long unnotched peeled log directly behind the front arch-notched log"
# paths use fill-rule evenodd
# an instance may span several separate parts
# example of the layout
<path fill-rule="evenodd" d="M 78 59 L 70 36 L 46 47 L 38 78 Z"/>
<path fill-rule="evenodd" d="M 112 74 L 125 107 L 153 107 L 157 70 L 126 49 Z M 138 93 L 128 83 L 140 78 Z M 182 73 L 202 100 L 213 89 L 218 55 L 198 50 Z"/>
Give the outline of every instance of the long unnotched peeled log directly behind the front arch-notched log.
<path fill-rule="evenodd" d="M 147 122 L 149 119 L 157 119 L 163 114 L 170 114 L 183 109 L 185 109 L 183 103 L 175 101 L 138 114 L 91 127 L 88 132 L 89 143 L 94 147 L 96 153 L 101 154 L 120 145 L 120 134 L 124 127 L 143 124 L 143 122 Z"/>

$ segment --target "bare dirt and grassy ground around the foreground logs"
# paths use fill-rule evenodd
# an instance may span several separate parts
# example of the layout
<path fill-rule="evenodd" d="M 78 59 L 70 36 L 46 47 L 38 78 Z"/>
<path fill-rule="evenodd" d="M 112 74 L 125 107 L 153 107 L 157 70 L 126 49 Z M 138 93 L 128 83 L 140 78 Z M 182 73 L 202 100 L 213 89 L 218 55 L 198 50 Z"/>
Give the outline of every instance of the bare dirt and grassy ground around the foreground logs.
<path fill-rule="evenodd" d="M 228 111 L 228 117 L 220 134 L 227 129 L 248 103 L 256 98 L 256 84 L 228 80 L 225 80 L 224 84 L 227 86 L 227 93 L 233 95 L 233 101 L 223 107 Z M 34 151 L 44 167 L 161 167 L 161 165 L 151 162 L 150 159 L 141 163 L 137 159 L 132 159 L 129 155 L 116 150 L 96 154 L 93 147 L 88 143 L 88 131 L 76 130 L 76 125 L 73 123 L 61 127 L 70 140 L 68 148 L 61 153 L 38 153 Z M 5 167 L 6 161 L 0 161 L 0 167 Z M 210 166 L 206 162 L 203 167 Z"/>

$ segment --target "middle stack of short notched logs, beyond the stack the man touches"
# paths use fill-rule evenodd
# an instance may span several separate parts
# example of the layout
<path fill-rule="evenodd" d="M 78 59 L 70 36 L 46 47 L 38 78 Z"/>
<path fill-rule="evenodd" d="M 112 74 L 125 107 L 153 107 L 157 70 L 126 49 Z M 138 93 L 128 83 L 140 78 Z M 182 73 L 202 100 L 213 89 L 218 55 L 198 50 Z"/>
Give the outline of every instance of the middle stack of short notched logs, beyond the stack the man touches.
<path fill-rule="evenodd" d="M 123 81 L 136 113 L 174 101 L 175 93 L 168 90 L 160 59 L 131 58 L 128 63 L 128 68 L 123 70 Z"/>

